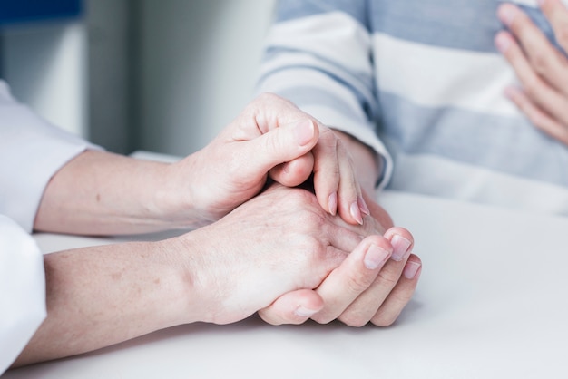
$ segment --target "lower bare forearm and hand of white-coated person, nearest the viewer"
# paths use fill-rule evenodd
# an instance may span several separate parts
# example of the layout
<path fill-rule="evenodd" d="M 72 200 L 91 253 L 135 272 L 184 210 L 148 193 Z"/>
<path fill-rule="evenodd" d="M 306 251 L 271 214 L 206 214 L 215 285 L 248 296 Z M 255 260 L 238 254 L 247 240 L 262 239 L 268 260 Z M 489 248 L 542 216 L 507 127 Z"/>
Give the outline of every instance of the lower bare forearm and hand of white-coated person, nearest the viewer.
<path fill-rule="evenodd" d="M 313 193 L 274 184 L 179 237 L 45 255 L 47 318 L 15 364 L 181 324 L 239 321 L 318 287 L 365 233 L 321 209 Z"/>

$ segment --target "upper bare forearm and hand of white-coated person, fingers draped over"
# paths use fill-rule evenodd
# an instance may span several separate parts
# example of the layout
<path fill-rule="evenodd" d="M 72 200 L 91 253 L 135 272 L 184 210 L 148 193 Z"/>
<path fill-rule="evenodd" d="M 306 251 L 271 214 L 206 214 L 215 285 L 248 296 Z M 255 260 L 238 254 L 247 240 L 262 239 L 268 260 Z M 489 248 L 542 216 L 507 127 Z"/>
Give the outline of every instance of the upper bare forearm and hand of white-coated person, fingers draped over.
<path fill-rule="evenodd" d="M 197 228 L 256 196 L 269 177 L 288 187 L 309 180 L 320 207 L 350 224 L 367 213 L 344 143 L 291 102 L 264 94 L 176 163 L 84 151 L 49 181 L 34 228 L 90 235 Z"/>

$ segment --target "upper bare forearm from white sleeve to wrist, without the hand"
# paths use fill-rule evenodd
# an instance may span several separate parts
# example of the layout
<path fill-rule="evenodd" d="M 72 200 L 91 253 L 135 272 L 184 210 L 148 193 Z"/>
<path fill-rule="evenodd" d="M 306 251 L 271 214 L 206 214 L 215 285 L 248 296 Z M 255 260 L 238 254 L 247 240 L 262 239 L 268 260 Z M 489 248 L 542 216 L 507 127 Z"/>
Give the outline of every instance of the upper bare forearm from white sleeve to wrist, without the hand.
<path fill-rule="evenodd" d="M 103 151 L 85 151 L 47 185 L 34 229 L 105 235 L 191 226 L 191 209 L 183 220 L 172 219 L 173 212 L 165 209 L 164 203 L 171 197 L 167 179 L 170 167 Z M 183 202 L 178 204 L 181 207 Z"/>

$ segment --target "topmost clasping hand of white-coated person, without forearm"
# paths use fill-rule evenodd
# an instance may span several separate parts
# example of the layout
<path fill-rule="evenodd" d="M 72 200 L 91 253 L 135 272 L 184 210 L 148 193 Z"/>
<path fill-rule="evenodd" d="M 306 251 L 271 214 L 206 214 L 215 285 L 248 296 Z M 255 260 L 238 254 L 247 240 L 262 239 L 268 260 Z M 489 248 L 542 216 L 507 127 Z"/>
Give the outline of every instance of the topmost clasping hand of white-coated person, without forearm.
<path fill-rule="evenodd" d="M 203 150 L 171 166 L 167 193 L 187 193 L 181 203 L 191 203 L 204 225 L 258 194 L 268 175 L 293 187 L 312 172 L 322 209 L 362 223 L 367 205 L 342 142 L 291 102 L 263 94 Z M 182 217 L 179 204 L 166 208 Z"/>

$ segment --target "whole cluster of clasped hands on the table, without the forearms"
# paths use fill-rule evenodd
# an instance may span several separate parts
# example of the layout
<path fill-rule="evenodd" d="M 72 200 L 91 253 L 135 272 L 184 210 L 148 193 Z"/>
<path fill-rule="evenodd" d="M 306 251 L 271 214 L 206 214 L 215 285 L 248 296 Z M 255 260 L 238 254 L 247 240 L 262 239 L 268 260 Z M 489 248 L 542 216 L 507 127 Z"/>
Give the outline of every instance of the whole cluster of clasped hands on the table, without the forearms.
<path fill-rule="evenodd" d="M 270 324 L 387 326 L 414 293 L 421 264 L 412 235 L 377 221 L 389 218 L 365 201 L 342 141 L 291 102 L 261 95 L 171 169 L 174 179 L 191 172 L 188 198 L 203 224 L 217 220 L 191 233 L 215 245 L 210 269 L 200 270 L 210 275 L 198 280 L 208 283 L 203 293 L 224 288 L 222 302 L 204 299 L 208 321 L 260 311 Z M 312 173 L 315 194 L 290 188 Z M 283 186 L 260 193 L 268 177 Z"/>

